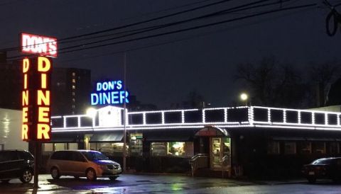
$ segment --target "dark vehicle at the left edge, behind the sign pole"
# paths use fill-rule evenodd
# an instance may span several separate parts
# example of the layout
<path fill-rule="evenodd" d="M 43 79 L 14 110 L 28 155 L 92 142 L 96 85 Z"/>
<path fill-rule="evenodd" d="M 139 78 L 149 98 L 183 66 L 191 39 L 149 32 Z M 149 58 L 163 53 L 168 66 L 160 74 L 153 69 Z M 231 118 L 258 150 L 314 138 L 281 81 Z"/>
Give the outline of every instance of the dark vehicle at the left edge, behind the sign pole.
<path fill-rule="evenodd" d="M 34 159 L 30 152 L 23 150 L 0 151 L 0 181 L 8 183 L 13 178 L 28 183 L 32 180 Z"/>

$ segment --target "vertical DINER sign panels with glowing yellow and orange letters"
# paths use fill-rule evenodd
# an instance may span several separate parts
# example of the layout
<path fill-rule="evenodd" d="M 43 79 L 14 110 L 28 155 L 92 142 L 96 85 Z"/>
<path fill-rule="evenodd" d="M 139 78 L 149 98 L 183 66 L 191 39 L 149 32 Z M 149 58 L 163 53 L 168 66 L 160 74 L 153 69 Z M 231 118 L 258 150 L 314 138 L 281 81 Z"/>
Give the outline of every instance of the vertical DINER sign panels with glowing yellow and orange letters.
<path fill-rule="evenodd" d="M 48 57 L 23 59 L 23 125 L 21 139 L 41 141 L 50 139 L 50 73 Z"/>

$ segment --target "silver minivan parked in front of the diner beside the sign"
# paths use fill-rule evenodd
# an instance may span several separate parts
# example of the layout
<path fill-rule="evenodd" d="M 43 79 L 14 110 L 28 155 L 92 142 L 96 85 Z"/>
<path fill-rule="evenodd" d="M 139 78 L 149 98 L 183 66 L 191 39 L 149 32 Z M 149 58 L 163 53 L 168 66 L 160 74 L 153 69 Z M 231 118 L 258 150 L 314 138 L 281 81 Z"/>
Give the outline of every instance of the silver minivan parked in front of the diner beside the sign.
<path fill-rule="evenodd" d="M 53 179 L 60 176 L 81 176 L 95 181 L 97 177 L 107 177 L 115 180 L 122 173 L 121 166 L 101 152 L 93 150 L 56 151 L 48 159 L 46 170 Z"/>

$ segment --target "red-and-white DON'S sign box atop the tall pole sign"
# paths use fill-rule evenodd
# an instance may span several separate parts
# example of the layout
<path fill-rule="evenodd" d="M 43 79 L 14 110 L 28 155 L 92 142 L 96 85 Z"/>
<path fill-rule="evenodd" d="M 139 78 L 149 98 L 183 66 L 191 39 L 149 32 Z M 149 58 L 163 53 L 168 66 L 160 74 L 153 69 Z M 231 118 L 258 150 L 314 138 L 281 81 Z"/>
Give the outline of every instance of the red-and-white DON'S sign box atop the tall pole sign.
<path fill-rule="evenodd" d="M 21 52 L 57 57 L 57 39 L 21 33 Z"/>

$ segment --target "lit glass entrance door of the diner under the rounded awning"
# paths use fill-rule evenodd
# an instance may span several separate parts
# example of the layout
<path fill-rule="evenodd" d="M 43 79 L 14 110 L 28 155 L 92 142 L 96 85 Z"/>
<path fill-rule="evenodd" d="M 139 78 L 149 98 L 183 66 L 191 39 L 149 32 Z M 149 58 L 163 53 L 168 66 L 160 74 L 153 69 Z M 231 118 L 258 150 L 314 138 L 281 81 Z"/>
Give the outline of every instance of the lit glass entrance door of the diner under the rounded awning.
<path fill-rule="evenodd" d="M 210 168 L 212 170 L 231 169 L 231 138 L 211 137 L 210 138 Z"/>

